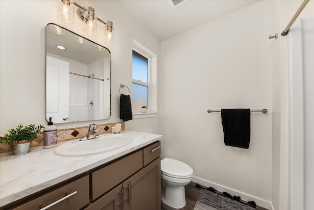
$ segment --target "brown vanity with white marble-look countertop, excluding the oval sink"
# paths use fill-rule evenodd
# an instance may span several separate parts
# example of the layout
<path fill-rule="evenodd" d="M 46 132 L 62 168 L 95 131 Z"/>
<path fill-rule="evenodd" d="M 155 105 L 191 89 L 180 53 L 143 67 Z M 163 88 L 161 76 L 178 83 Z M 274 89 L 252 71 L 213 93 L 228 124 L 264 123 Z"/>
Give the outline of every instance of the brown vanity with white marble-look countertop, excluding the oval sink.
<path fill-rule="evenodd" d="M 0 210 L 160 210 L 162 136 L 122 133 L 130 144 L 100 154 L 65 157 L 37 148 L 1 155 Z"/>

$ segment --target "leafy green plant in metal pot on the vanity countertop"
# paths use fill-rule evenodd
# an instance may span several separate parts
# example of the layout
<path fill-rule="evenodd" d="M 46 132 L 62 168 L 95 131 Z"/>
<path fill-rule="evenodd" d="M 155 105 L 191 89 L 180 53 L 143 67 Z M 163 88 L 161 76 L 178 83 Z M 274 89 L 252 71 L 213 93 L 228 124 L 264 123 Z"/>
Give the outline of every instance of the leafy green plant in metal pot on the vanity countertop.
<path fill-rule="evenodd" d="M 8 130 L 8 134 L 0 136 L 0 143 L 11 145 L 13 155 L 25 154 L 29 152 L 30 143 L 33 139 L 37 138 L 37 133 L 43 128 L 43 125 L 35 126 L 34 124 L 30 124 L 23 127 L 20 124 L 16 128 Z"/>

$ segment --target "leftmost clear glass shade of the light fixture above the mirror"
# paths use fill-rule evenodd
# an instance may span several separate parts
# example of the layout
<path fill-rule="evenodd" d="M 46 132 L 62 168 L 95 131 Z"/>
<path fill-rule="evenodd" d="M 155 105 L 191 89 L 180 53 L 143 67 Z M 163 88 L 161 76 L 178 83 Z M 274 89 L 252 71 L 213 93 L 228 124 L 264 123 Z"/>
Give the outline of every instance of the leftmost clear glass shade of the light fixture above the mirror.
<path fill-rule="evenodd" d="M 74 24 L 74 1 L 58 0 L 57 18 L 66 24 Z"/>

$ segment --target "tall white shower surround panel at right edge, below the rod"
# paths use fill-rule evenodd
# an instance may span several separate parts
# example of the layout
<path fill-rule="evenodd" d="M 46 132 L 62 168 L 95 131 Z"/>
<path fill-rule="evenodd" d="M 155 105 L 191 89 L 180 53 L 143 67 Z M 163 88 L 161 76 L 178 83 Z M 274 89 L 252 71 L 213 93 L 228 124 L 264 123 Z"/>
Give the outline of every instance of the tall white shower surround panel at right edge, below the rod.
<path fill-rule="evenodd" d="M 290 209 L 314 208 L 314 17 L 290 30 Z"/>

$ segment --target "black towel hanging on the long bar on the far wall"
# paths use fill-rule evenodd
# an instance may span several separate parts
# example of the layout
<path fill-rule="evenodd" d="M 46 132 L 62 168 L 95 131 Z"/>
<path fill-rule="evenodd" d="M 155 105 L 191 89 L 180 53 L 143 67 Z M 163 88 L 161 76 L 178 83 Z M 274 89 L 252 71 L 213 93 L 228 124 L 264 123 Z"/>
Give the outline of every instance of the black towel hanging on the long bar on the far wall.
<path fill-rule="evenodd" d="M 249 149 L 250 146 L 250 109 L 222 109 L 221 123 L 224 142 L 227 146 Z"/>

